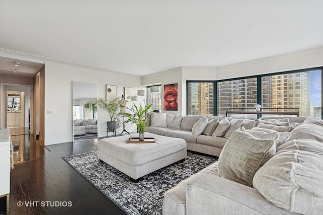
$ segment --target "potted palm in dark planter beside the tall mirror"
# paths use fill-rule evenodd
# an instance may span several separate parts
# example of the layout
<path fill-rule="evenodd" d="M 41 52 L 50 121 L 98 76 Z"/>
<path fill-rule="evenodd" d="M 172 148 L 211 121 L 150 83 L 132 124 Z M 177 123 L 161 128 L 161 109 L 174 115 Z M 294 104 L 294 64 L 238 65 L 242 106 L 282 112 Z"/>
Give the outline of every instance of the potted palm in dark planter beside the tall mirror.
<path fill-rule="evenodd" d="M 120 116 L 130 116 L 130 114 L 127 113 L 120 113 L 121 105 L 119 100 L 120 96 L 109 102 L 105 101 L 104 98 L 97 99 L 97 106 L 109 114 L 110 121 L 106 122 L 106 126 L 109 131 L 114 131 L 117 128 L 120 128 Z"/>

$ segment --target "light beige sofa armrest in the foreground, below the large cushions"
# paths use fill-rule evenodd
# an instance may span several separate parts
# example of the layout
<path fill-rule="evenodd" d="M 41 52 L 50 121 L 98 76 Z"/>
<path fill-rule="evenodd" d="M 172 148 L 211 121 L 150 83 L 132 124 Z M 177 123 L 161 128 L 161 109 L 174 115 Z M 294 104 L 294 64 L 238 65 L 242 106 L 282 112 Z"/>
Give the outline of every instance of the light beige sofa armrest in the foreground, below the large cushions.
<path fill-rule="evenodd" d="M 252 187 L 211 175 L 188 184 L 186 211 L 188 215 L 295 214 L 267 201 Z"/>

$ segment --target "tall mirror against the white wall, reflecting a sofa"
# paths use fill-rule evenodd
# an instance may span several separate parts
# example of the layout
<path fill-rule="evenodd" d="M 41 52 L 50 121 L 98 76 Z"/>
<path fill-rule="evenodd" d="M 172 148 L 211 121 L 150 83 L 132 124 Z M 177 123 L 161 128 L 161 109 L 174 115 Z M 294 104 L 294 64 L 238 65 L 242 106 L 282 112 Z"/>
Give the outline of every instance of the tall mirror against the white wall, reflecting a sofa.
<path fill-rule="evenodd" d="M 73 141 L 97 138 L 96 84 L 73 82 Z"/>

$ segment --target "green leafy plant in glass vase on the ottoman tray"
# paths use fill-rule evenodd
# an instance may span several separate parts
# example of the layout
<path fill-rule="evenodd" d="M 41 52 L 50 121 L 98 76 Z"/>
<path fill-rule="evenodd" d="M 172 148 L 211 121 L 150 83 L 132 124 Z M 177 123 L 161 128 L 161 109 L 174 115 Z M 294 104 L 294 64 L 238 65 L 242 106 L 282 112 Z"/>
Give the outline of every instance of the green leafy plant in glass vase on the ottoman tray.
<path fill-rule="evenodd" d="M 142 141 L 145 138 L 145 132 L 148 129 L 146 126 L 146 121 L 147 121 L 147 111 L 149 108 L 151 108 L 152 104 L 146 105 L 144 108 L 140 105 L 137 107 L 135 104 L 133 104 L 133 107 L 130 109 L 133 114 L 129 117 L 129 119 L 126 121 L 131 122 L 131 124 L 136 124 L 137 125 L 137 131 L 139 133 L 139 140 Z"/>

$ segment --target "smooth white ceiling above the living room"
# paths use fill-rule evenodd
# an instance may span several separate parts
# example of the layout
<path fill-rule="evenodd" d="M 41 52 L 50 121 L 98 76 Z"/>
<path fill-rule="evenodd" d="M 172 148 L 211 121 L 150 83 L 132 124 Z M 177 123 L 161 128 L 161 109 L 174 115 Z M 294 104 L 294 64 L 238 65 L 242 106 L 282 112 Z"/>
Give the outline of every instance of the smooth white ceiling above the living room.
<path fill-rule="evenodd" d="M 322 46 L 322 8 L 322 0 L 2 0 L 0 48 L 142 76 Z"/>

